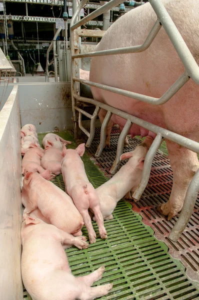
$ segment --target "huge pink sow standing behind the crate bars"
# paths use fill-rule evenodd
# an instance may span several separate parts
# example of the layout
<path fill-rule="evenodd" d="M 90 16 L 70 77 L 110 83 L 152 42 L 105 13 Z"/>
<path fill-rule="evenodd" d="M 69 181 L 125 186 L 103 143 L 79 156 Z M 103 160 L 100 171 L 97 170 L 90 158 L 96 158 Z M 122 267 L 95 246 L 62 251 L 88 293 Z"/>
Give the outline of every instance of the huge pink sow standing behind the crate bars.
<path fill-rule="evenodd" d="M 162 2 L 196 62 L 199 63 L 198 0 L 162 0 Z M 142 44 L 156 19 L 157 16 L 149 3 L 132 9 L 109 27 L 95 50 Z M 183 72 L 182 62 L 165 30 L 161 28 L 152 44 L 143 52 L 92 57 L 89 79 L 158 98 Z M 192 79 L 169 101 L 159 106 L 95 87 L 91 87 L 91 90 L 95 100 L 192 140 L 199 140 L 199 86 Z M 105 111 L 101 109 L 99 113 L 101 121 L 104 116 Z M 112 115 L 107 127 L 106 144 L 109 144 L 112 122 L 122 128 L 126 120 Z M 148 132 L 136 124 L 132 124 L 130 134 L 155 137 L 153 132 Z M 199 165 L 196 153 L 168 140 L 166 145 L 173 170 L 173 186 L 168 202 L 161 205 L 160 211 L 170 219 L 182 208 L 188 184 Z"/>

